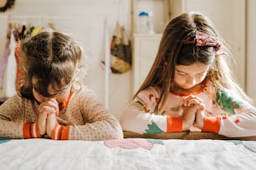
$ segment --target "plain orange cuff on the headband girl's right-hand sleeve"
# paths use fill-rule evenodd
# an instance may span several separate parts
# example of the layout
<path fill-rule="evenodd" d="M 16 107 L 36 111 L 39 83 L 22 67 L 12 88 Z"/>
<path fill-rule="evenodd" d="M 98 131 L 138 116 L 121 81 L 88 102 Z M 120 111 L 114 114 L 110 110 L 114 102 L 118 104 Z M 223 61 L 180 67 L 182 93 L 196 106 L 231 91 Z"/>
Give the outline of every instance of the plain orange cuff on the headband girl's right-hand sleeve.
<path fill-rule="evenodd" d="M 219 133 L 220 118 L 204 117 L 202 132 Z"/>

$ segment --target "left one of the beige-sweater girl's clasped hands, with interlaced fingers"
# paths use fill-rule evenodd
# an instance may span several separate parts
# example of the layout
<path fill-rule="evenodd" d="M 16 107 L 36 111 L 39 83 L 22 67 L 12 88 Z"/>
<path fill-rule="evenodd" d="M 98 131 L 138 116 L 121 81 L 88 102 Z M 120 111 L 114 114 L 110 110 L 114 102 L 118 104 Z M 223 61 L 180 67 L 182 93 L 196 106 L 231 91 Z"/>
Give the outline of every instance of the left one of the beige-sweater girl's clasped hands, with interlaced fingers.
<path fill-rule="evenodd" d="M 55 98 L 50 98 L 48 101 L 40 103 L 38 111 L 38 128 L 40 135 L 43 136 L 44 134 L 48 133 L 48 124 L 51 124 L 53 121 L 53 117 L 50 115 L 54 115 L 56 119 L 56 115 L 59 114 L 59 104 Z"/>

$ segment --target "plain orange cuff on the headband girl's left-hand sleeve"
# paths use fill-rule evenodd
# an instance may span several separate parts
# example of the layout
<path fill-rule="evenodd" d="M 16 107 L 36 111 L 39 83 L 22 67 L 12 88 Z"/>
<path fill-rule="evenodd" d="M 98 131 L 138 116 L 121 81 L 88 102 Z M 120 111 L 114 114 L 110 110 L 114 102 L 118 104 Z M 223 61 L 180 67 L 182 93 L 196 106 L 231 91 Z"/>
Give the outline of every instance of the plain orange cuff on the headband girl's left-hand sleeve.
<path fill-rule="evenodd" d="M 182 117 L 167 116 L 167 132 L 177 133 L 182 132 Z"/>

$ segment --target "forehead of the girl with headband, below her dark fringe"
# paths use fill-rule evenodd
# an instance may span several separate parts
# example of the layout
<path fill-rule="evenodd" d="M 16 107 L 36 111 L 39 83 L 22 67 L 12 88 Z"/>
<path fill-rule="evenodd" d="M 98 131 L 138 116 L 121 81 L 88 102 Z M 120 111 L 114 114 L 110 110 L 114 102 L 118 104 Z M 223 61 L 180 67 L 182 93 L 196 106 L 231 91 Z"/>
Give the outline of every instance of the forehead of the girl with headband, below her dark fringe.
<path fill-rule="evenodd" d="M 187 65 L 177 65 L 175 67 L 175 69 L 178 72 L 197 74 L 197 73 L 207 72 L 209 67 L 210 67 L 210 64 L 204 64 L 202 62 L 195 62 L 188 66 Z"/>

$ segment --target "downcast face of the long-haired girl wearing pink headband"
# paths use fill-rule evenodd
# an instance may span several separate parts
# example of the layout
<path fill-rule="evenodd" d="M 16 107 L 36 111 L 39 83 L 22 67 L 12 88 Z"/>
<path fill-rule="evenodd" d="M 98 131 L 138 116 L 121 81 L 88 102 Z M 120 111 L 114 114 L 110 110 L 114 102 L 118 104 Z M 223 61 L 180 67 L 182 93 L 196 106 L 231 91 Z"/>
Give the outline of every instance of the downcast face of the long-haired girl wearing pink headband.
<path fill-rule="evenodd" d="M 192 65 L 177 65 L 175 67 L 174 82 L 182 89 L 189 90 L 200 84 L 207 75 L 210 65 L 195 62 Z"/>

